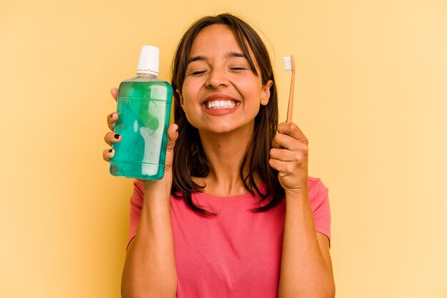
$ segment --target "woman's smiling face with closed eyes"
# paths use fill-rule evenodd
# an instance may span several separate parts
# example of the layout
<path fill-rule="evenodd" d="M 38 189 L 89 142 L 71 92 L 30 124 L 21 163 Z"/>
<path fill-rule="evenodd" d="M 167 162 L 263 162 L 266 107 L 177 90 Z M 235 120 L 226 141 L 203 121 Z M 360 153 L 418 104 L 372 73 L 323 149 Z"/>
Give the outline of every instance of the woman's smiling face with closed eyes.
<path fill-rule="evenodd" d="M 260 105 L 270 98 L 271 81 L 262 84 L 261 72 L 251 58 L 258 76 L 228 26 L 211 25 L 199 32 L 191 46 L 180 97 L 191 125 L 214 133 L 253 130 Z"/>

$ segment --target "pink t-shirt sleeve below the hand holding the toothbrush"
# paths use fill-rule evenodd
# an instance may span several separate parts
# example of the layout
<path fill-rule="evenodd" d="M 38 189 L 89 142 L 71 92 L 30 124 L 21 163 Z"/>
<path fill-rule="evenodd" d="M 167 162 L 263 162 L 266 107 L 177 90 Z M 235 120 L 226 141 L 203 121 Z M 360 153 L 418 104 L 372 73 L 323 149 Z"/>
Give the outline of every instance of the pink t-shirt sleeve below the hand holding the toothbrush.
<path fill-rule="evenodd" d="M 318 178 L 309 178 L 309 199 L 316 232 L 321 232 L 331 240 L 331 209 L 328 188 Z"/>

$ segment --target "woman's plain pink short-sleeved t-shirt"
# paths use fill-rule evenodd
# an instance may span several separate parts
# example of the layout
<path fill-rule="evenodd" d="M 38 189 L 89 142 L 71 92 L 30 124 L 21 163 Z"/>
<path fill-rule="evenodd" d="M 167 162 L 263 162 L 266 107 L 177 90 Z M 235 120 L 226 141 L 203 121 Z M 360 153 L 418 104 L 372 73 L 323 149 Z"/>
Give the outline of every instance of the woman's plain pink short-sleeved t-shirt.
<path fill-rule="evenodd" d="M 309 178 L 308 187 L 316 231 L 330 239 L 328 189 L 317 178 Z M 266 185 L 259 188 L 264 192 Z M 136 235 L 142 190 L 136 180 L 129 242 Z M 250 193 L 233 197 L 196 193 L 192 200 L 217 215 L 199 215 L 184 200 L 171 196 L 177 297 L 277 297 L 285 200 L 266 212 L 251 211 L 260 206 L 260 197 Z"/>

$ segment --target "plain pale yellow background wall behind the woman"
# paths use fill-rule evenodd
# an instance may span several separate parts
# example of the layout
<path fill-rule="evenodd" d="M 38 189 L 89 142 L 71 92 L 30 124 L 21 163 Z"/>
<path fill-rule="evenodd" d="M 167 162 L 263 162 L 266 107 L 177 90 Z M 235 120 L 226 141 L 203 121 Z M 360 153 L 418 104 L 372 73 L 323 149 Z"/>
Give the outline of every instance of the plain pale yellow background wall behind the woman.
<path fill-rule="evenodd" d="M 447 297 L 447 2 L 0 2 L 0 297 L 119 297 L 131 180 L 101 158 L 141 45 L 206 14 L 266 36 L 330 189 L 337 297 Z M 268 39 L 267 39 L 268 38 Z M 260 256 L 262 257 L 262 256 Z"/>

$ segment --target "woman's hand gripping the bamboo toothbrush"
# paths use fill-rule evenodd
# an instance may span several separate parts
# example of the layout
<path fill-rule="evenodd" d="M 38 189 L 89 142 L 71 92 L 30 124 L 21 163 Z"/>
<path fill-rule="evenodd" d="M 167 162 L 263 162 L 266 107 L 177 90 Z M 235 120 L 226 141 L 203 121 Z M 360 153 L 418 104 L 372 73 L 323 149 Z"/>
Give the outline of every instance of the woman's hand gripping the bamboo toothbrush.
<path fill-rule="evenodd" d="M 295 123 L 278 125 L 268 163 L 278 170 L 279 182 L 286 192 L 307 191 L 308 140 Z"/>

